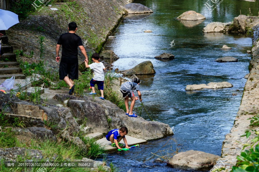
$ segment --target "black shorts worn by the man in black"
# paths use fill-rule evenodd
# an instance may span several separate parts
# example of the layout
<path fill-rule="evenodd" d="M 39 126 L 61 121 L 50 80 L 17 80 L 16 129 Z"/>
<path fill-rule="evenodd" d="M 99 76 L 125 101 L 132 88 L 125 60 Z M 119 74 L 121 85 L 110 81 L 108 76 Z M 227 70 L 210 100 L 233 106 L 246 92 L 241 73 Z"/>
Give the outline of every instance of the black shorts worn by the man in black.
<path fill-rule="evenodd" d="M 78 62 L 75 63 L 64 63 L 60 61 L 59 64 L 59 79 L 63 80 L 65 76 L 67 76 L 69 79 L 78 79 Z"/>

